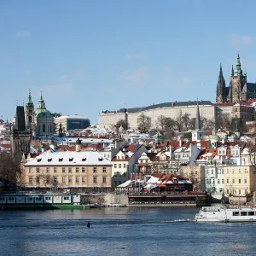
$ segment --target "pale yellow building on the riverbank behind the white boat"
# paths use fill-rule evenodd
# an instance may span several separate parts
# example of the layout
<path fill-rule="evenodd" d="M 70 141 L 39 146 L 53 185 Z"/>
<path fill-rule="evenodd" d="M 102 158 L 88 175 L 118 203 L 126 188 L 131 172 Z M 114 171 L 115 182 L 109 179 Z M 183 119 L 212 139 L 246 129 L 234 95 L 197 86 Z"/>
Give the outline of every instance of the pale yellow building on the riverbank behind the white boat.
<path fill-rule="evenodd" d="M 254 191 L 253 166 L 224 166 L 224 195 L 245 196 Z"/>

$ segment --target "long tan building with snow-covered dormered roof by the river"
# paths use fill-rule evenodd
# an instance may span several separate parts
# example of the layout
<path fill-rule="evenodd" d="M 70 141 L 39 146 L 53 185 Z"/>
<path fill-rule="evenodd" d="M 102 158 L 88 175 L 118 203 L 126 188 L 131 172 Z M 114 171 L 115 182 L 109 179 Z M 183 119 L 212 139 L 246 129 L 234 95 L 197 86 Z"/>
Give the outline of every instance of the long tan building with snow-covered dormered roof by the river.
<path fill-rule="evenodd" d="M 27 160 L 21 180 L 26 187 L 110 188 L 111 162 L 98 152 L 44 152 Z"/>

